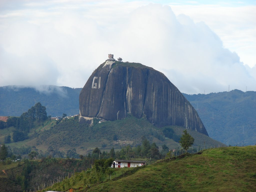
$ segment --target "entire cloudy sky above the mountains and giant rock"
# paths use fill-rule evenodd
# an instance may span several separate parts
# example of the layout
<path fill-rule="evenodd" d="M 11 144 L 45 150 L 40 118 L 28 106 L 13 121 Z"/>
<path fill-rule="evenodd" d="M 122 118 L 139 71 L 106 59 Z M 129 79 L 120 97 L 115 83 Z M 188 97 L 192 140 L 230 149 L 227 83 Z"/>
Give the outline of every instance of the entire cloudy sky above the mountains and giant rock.
<path fill-rule="evenodd" d="M 255 10 L 256 1 L 1 0 L 0 86 L 81 88 L 114 54 L 183 93 L 256 91 Z"/>

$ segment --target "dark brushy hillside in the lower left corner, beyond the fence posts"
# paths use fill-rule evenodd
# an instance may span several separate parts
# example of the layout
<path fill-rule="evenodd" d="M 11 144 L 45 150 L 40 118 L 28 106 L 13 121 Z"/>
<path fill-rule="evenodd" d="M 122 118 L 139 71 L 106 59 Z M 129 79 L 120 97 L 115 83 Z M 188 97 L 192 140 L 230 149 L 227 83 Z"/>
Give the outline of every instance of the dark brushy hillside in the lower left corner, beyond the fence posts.
<path fill-rule="evenodd" d="M 39 185 L 50 186 L 63 177 L 71 177 L 73 172 L 81 172 L 91 167 L 90 161 L 78 159 L 42 158 L 25 159 L 22 162 L 0 162 L 1 191 L 34 191 Z M 62 179 L 63 180 L 63 179 Z M 38 188 L 37 188 L 38 189 Z"/>

